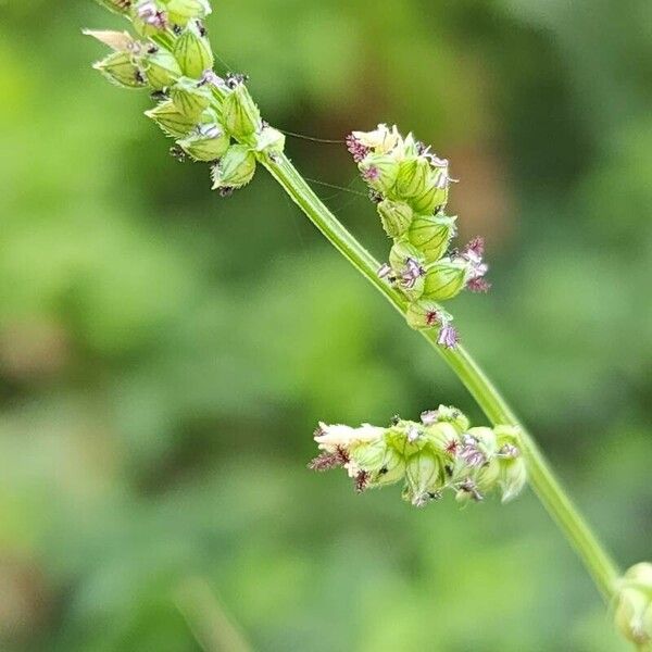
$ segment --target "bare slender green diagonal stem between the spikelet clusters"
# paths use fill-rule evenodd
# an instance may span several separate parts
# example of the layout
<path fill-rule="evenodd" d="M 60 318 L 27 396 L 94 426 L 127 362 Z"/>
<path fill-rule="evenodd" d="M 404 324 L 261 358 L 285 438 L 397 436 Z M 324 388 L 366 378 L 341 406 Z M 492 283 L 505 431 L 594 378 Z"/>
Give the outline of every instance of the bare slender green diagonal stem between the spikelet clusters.
<path fill-rule="evenodd" d="M 285 155 L 280 155 L 274 160 L 263 161 L 263 164 L 329 242 L 404 315 L 406 301 L 398 290 L 378 277 L 379 263 L 338 222 L 290 161 Z M 532 489 L 575 548 L 604 599 L 610 601 L 614 597 L 619 576 L 618 568 L 554 477 L 531 435 L 518 422 L 499 391 L 463 347 L 444 349 L 437 344 L 436 336 L 431 330 L 422 331 L 422 335 L 455 372 L 494 425 L 519 427 Z"/>

